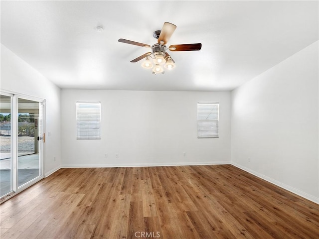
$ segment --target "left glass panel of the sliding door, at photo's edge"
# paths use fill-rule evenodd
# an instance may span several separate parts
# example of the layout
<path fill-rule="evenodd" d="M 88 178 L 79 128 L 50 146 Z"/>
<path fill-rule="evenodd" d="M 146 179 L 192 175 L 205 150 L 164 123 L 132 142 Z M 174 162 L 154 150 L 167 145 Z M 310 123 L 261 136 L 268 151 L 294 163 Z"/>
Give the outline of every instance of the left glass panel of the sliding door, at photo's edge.
<path fill-rule="evenodd" d="M 0 197 L 12 191 L 11 97 L 0 95 Z"/>

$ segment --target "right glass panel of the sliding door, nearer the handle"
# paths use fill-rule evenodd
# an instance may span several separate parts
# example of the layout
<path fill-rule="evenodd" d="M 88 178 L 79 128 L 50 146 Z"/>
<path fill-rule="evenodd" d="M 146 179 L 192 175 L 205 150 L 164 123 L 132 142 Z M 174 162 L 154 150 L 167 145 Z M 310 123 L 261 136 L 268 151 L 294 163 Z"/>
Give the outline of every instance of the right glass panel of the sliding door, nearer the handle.
<path fill-rule="evenodd" d="M 41 175 L 41 104 L 18 98 L 17 183 L 18 187 Z"/>

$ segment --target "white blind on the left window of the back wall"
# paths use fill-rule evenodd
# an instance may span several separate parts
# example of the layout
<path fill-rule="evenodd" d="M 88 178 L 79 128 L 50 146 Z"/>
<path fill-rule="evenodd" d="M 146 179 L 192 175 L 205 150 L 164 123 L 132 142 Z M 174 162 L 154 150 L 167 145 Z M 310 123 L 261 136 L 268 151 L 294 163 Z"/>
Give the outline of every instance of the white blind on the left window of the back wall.
<path fill-rule="evenodd" d="M 101 103 L 76 102 L 76 139 L 101 139 Z"/>

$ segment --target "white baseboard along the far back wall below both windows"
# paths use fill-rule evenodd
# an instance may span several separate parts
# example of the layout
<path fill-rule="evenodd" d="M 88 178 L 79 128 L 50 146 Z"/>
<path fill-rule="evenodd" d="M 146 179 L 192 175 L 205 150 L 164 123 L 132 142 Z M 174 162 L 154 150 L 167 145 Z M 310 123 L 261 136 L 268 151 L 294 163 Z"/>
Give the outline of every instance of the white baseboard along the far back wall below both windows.
<path fill-rule="evenodd" d="M 129 163 L 129 164 L 62 164 L 61 168 L 120 168 L 120 167 L 160 167 L 160 166 L 192 166 L 230 164 L 229 161 L 215 162 L 180 162 L 180 163 Z"/>

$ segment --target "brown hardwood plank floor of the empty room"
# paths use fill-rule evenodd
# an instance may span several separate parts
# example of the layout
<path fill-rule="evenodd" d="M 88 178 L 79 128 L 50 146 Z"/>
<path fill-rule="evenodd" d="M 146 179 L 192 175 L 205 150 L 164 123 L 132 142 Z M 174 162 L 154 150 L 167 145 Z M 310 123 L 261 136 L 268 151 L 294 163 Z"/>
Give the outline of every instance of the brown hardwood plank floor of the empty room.
<path fill-rule="evenodd" d="M 1 239 L 316 239 L 319 205 L 231 165 L 65 168 L 0 205 Z"/>

